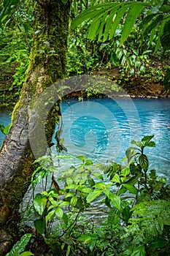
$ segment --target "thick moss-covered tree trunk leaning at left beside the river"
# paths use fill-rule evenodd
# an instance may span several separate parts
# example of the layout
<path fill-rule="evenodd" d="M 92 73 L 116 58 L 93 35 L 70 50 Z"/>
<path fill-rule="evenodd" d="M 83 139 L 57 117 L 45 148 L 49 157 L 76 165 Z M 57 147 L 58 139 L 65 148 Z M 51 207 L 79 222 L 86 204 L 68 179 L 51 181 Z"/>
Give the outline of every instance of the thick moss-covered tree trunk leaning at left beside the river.
<path fill-rule="evenodd" d="M 28 138 L 29 109 L 39 94 L 67 75 L 69 8 L 70 1 L 63 4 L 61 0 L 41 0 L 36 4 L 30 65 L 19 102 L 12 113 L 12 127 L 0 153 L 0 255 L 5 255 L 12 245 L 12 234 L 17 232 L 18 208 L 33 172 L 34 154 Z M 55 121 L 56 116 L 47 120 L 49 143 Z"/>

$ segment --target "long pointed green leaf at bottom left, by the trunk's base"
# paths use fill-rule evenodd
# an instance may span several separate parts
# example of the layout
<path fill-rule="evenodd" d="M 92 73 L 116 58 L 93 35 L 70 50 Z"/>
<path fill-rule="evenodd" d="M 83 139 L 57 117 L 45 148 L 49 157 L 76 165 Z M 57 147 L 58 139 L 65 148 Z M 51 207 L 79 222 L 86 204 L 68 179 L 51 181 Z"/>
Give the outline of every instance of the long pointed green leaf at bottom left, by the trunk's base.
<path fill-rule="evenodd" d="M 18 241 L 11 249 L 10 252 L 7 253 L 7 255 L 5 256 L 18 256 L 20 255 L 20 253 L 22 253 L 25 248 L 26 248 L 26 245 L 28 244 L 28 241 L 30 240 L 31 238 L 31 234 L 29 233 L 26 233 L 25 235 L 23 235 L 21 238 L 20 238 L 20 241 Z"/>

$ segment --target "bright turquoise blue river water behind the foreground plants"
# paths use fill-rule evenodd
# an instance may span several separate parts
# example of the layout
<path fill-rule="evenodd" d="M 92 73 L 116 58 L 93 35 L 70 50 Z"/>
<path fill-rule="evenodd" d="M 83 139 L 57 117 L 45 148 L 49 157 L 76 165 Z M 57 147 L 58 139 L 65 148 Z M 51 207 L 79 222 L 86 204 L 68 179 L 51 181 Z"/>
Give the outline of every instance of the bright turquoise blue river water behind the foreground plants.
<path fill-rule="evenodd" d="M 154 135 L 156 147 L 146 150 L 150 168 L 170 178 L 170 99 L 70 100 L 63 102 L 62 113 L 63 145 L 72 156 L 121 162 L 131 140 Z M 0 113 L 4 126 L 9 121 L 9 113 Z"/>

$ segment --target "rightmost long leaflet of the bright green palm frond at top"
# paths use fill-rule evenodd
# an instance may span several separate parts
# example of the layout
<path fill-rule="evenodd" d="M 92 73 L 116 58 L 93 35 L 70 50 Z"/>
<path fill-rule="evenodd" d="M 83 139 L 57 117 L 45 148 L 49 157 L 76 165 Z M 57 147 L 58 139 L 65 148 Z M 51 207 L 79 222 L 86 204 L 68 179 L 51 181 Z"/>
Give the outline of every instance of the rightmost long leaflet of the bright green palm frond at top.
<path fill-rule="evenodd" d="M 143 9 L 144 3 L 136 2 L 136 4 L 129 10 L 127 17 L 125 18 L 122 37 L 120 39 L 120 45 L 122 45 L 123 42 L 125 42 L 125 40 L 128 38 L 129 34 L 131 33 L 131 30 L 134 27 L 136 19 L 139 17 Z"/>

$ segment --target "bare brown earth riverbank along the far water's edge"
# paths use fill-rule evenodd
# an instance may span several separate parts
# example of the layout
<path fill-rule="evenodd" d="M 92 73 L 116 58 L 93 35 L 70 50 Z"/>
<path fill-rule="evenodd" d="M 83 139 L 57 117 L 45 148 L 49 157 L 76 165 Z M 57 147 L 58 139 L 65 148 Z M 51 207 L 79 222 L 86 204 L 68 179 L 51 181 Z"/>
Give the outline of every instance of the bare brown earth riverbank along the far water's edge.
<path fill-rule="evenodd" d="M 12 75 L 14 75 L 13 71 L 4 80 L 0 81 L 0 109 L 12 109 L 16 102 L 18 102 L 20 87 L 12 86 Z M 131 98 L 170 98 L 170 91 L 166 91 L 163 85 L 163 76 L 159 77 L 161 74 L 129 77 L 128 75 L 123 75 L 118 67 L 102 67 L 94 71 L 91 75 L 98 75 L 112 80 L 118 87 L 120 86 L 125 90 L 126 96 Z M 69 95 L 69 97 L 77 99 L 101 96 L 106 97 L 106 95 L 97 94 L 96 92 L 93 94 L 92 91 L 90 93 L 89 91 L 75 91 Z"/>

